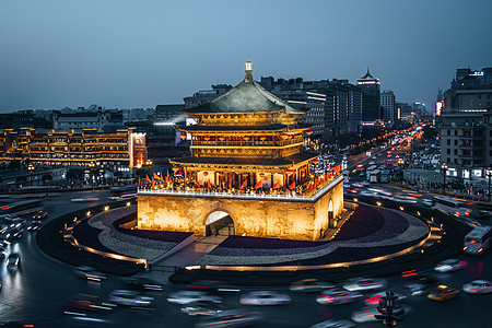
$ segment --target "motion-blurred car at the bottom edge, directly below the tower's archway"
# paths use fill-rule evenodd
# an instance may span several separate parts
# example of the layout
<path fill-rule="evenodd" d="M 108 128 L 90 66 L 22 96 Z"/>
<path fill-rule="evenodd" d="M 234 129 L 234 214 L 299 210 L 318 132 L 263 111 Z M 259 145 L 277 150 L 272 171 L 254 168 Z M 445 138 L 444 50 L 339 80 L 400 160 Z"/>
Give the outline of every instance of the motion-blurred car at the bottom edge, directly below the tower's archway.
<path fill-rule="evenodd" d="M 259 323 L 263 317 L 258 312 L 227 309 L 204 317 L 195 327 L 246 327 Z"/>

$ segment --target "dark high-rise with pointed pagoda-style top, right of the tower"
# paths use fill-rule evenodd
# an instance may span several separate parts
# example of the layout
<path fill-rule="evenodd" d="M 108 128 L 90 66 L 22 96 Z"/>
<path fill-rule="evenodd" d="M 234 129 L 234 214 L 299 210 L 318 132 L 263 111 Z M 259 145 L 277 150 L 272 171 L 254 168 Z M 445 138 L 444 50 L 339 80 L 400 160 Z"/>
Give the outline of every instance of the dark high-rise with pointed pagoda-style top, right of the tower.
<path fill-rule="evenodd" d="M 367 69 L 367 73 L 358 79 L 358 85 L 362 90 L 362 121 L 383 119 L 379 79 L 371 75 Z"/>

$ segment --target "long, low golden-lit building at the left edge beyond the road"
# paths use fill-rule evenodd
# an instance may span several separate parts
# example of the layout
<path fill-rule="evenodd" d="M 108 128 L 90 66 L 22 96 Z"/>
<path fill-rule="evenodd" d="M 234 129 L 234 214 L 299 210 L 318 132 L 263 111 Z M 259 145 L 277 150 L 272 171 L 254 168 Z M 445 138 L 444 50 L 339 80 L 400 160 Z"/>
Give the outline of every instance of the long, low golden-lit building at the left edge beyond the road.
<path fill-rule="evenodd" d="M 36 130 L 23 128 L 19 131 L 0 132 L 2 161 L 31 161 L 44 165 L 107 165 L 115 167 L 133 167 L 147 160 L 144 134 L 134 133 L 133 129 L 116 132 L 97 132 L 95 129 L 83 130 Z M 143 139 L 143 141 L 142 141 Z M 136 141 L 137 140 L 137 141 Z"/>

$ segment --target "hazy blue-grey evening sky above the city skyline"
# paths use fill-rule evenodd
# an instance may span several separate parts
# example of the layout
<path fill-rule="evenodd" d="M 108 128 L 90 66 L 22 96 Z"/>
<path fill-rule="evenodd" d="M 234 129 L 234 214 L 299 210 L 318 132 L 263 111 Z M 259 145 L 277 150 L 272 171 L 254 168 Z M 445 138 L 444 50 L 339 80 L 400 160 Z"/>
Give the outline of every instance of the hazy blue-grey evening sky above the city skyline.
<path fill-rule="evenodd" d="M 370 67 L 429 106 L 456 68 L 492 67 L 491 16 L 491 0 L 1 0 L 0 112 L 181 103 L 248 58 L 257 80 Z"/>

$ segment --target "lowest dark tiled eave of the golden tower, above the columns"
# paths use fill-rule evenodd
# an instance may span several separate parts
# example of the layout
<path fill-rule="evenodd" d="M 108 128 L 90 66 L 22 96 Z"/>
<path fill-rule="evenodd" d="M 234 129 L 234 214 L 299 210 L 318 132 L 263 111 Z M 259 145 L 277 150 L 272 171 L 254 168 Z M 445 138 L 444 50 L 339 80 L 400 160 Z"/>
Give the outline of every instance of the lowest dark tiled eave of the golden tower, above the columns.
<path fill-rule="evenodd" d="M 171 160 L 176 164 L 218 164 L 218 165 L 263 165 L 263 166 L 284 166 L 293 165 L 308 160 L 314 160 L 317 153 L 298 153 L 288 157 L 268 159 L 268 157 L 180 157 Z"/>

